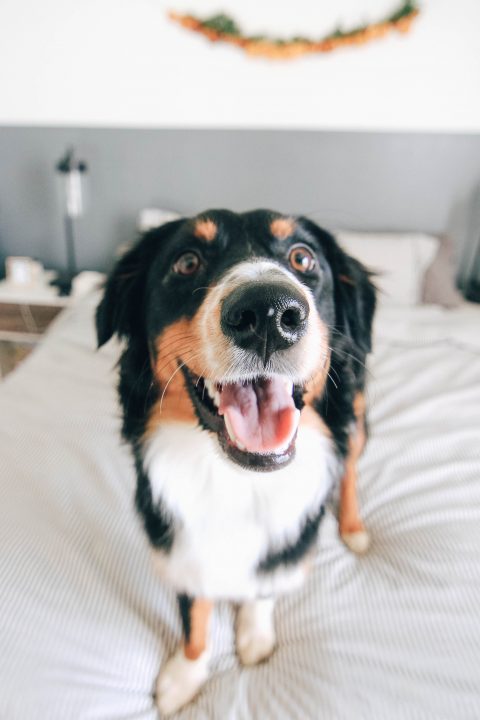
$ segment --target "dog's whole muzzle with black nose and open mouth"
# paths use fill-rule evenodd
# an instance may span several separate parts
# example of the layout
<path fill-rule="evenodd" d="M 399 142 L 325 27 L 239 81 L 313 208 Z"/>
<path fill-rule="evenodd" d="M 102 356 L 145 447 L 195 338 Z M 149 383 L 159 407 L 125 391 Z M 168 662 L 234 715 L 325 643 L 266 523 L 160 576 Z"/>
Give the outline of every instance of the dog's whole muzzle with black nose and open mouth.
<path fill-rule="evenodd" d="M 182 366 L 203 428 L 217 434 L 231 460 L 254 470 L 294 457 L 305 384 L 322 362 L 308 288 L 286 275 L 266 262 L 236 267 L 200 321 L 210 352 L 205 370 Z M 216 346 L 208 345 L 215 333 Z"/>

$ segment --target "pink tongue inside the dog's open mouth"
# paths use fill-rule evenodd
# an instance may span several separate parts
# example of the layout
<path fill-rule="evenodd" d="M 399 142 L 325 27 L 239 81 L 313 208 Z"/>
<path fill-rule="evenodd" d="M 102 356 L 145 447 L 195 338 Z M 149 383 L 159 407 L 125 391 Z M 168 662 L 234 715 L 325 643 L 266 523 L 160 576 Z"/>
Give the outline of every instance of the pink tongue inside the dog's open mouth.
<path fill-rule="evenodd" d="M 225 418 L 230 438 L 254 453 L 288 447 L 300 418 L 291 389 L 280 377 L 224 385 L 218 412 Z"/>

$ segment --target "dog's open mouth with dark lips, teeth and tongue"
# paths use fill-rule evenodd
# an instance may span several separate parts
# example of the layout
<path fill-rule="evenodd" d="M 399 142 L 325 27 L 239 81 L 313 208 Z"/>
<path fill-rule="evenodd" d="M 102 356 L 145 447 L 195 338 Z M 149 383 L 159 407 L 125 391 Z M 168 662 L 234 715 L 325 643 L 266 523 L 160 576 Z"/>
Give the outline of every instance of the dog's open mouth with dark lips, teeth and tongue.
<path fill-rule="evenodd" d="M 281 376 L 213 383 L 182 367 L 197 416 L 234 462 L 275 470 L 295 453 L 303 390 Z"/>

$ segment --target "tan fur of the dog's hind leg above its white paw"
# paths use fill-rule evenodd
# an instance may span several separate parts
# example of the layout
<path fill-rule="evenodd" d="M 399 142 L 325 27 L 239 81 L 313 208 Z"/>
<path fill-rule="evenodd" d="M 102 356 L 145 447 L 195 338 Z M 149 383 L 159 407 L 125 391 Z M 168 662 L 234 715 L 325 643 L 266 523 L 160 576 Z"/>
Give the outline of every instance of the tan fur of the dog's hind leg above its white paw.
<path fill-rule="evenodd" d="M 365 396 L 357 393 L 353 401 L 356 417 L 355 430 L 349 440 L 345 471 L 340 487 L 340 534 L 346 535 L 365 530 L 360 518 L 357 497 L 357 462 L 366 442 L 365 432 Z"/>

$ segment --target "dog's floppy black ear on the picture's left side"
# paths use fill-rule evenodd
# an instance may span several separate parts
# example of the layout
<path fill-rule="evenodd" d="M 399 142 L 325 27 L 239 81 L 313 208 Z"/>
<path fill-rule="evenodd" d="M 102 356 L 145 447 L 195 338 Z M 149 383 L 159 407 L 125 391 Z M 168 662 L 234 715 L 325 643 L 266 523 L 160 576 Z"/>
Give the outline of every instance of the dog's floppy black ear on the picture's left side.
<path fill-rule="evenodd" d="M 112 335 L 128 338 L 140 332 L 148 269 L 158 252 L 159 243 L 174 233 L 181 220 L 175 220 L 143 235 L 117 262 L 110 273 L 97 307 L 98 347 Z"/>

